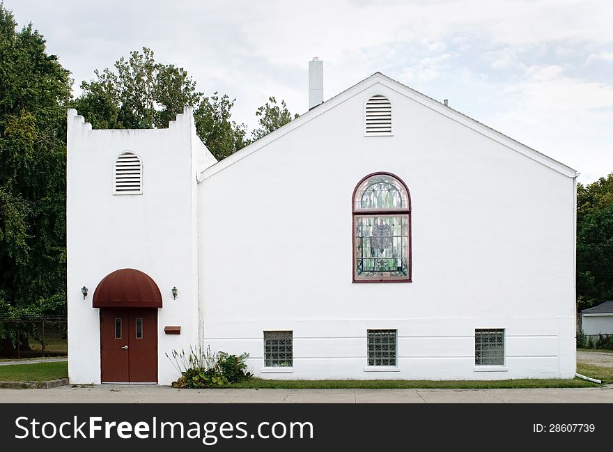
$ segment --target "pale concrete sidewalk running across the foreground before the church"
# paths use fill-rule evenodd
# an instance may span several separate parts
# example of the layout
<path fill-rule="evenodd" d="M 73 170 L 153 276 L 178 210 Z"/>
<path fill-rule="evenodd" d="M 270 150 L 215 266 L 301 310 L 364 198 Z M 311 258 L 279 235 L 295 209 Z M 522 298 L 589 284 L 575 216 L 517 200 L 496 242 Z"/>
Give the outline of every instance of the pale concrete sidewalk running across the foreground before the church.
<path fill-rule="evenodd" d="M 613 388 L 174 389 L 96 385 L 0 389 L 0 403 L 613 403 Z"/>

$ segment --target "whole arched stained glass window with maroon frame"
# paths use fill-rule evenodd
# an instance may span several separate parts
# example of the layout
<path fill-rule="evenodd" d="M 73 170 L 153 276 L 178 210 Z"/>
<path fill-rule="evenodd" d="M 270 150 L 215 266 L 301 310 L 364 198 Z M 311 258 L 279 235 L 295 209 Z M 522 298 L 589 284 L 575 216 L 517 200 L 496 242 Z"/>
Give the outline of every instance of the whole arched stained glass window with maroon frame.
<path fill-rule="evenodd" d="M 353 281 L 411 281 L 411 198 L 391 173 L 373 173 L 353 192 Z"/>

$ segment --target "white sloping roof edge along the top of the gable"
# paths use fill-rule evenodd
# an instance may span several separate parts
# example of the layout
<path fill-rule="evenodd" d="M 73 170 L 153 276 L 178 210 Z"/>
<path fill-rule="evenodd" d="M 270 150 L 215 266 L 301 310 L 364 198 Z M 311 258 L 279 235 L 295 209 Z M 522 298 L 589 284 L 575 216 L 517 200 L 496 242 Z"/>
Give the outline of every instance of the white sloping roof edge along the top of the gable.
<path fill-rule="evenodd" d="M 383 75 L 381 72 L 375 72 L 370 77 L 360 81 L 359 83 L 355 84 L 354 86 L 351 86 L 342 93 L 339 93 L 333 98 L 323 102 L 323 104 L 320 104 L 317 107 L 313 107 L 312 109 L 307 111 L 307 113 L 290 121 L 290 123 L 287 123 L 283 127 L 279 127 L 279 129 L 274 130 L 274 132 L 271 132 L 265 137 L 254 141 L 254 143 L 249 144 L 249 146 L 245 146 L 245 148 L 242 148 L 238 152 L 230 155 L 229 157 L 226 157 L 222 161 L 210 166 L 209 168 L 202 169 L 201 171 L 199 171 L 199 182 L 206 178 L 209 178 L 210 176 L 213 176 L 214 174 L 218 173 L 219 171 L 222 171 L 223 169 L 226 169 L 228 166 L 235 164 L 236 162 L 247 157 L 251 153 L 256 152 L 256 150 L 263 148 L 268 143 L 272 143 L 272 141 L 283 137 L 285 134 L 297 129 L 298 127 L 301 127 L 313 118 L 324 114 L 329 109 L 336 107 L 337 105 L 341 104 L 342 102 L 345 102 L 352 96 L 361 93 L 362 91 L 366 90 L 367 88 L 373 86 L 376 83 L 380 83 L 384 86 L 387 86 L 387 88 L 396 91 L 396 93 L 405 95 L 406 97 L 424 105 L 424 107 L 433 109 L 438 113 L 442 114 L 443 116 L 447 116 L 447 118 L 455 120 L 456 122 L 461 123 L 466 127 L 469 127 L 470 129 L 475 130 L 476 132 L 479 132 L 494 141 L 497 141 L 498 143 L 501 143 L 502 145 L 506 146 L 507 148 L 510 148 L 511 150 L 515 150 L 516 152 L 525 155 L 526 157 L 529 157 L 538 163 L 548 166 L 554 171 L 564 174 L 564 176 L 567 176 L 569 178 L 575 178 L 579 174 L 570 166 L 566 166 L 565 164 L 557 162 L 557 160 L 554 160 L 545 154 L 539 153 L 537 150 L 529 148 L 528 146 L 520 143 L 519 141 L 511 139 L 506 135 L 497 132 L 491 127 L 483 125 L 482 123 L 479 123 L 479 121 L 474 120 L 469 116 L 466 116 L 465 114 L 462 114 L 459 111 L 456 111 L 451 107 L 448 107 L 447 105 L 444 105 L 441 102 L 434 100 L 433 98 L 429 98 L 427 95 L 419 93 L 419 91 L 415 91 L 414 89 L 401 84 L 399 81 L 387 77 L 387 75 Z"/>

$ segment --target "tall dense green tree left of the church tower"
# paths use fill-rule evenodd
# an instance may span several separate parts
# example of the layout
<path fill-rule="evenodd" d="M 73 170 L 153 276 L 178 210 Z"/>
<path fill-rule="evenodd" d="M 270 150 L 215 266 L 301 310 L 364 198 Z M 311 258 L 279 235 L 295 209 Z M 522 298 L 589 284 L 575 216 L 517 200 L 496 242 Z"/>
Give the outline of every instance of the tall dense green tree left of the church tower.
<path fill-rule="evenodd" d="M 0 3 L 0 314 L 65 310 L 70 72 Z M 0 329 L 0 347 L 6 345 Z"/>

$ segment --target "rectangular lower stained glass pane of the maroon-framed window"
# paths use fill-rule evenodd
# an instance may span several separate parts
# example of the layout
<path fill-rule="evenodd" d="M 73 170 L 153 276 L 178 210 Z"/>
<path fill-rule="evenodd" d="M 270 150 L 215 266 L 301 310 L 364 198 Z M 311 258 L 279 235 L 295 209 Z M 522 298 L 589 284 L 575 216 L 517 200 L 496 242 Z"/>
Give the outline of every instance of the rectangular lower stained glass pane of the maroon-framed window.
<path fill-rule="evenodd" d="M 408 215 L 356 216 L 356 276 L 373 279 L 408 276 L 408 237 Z"/>

